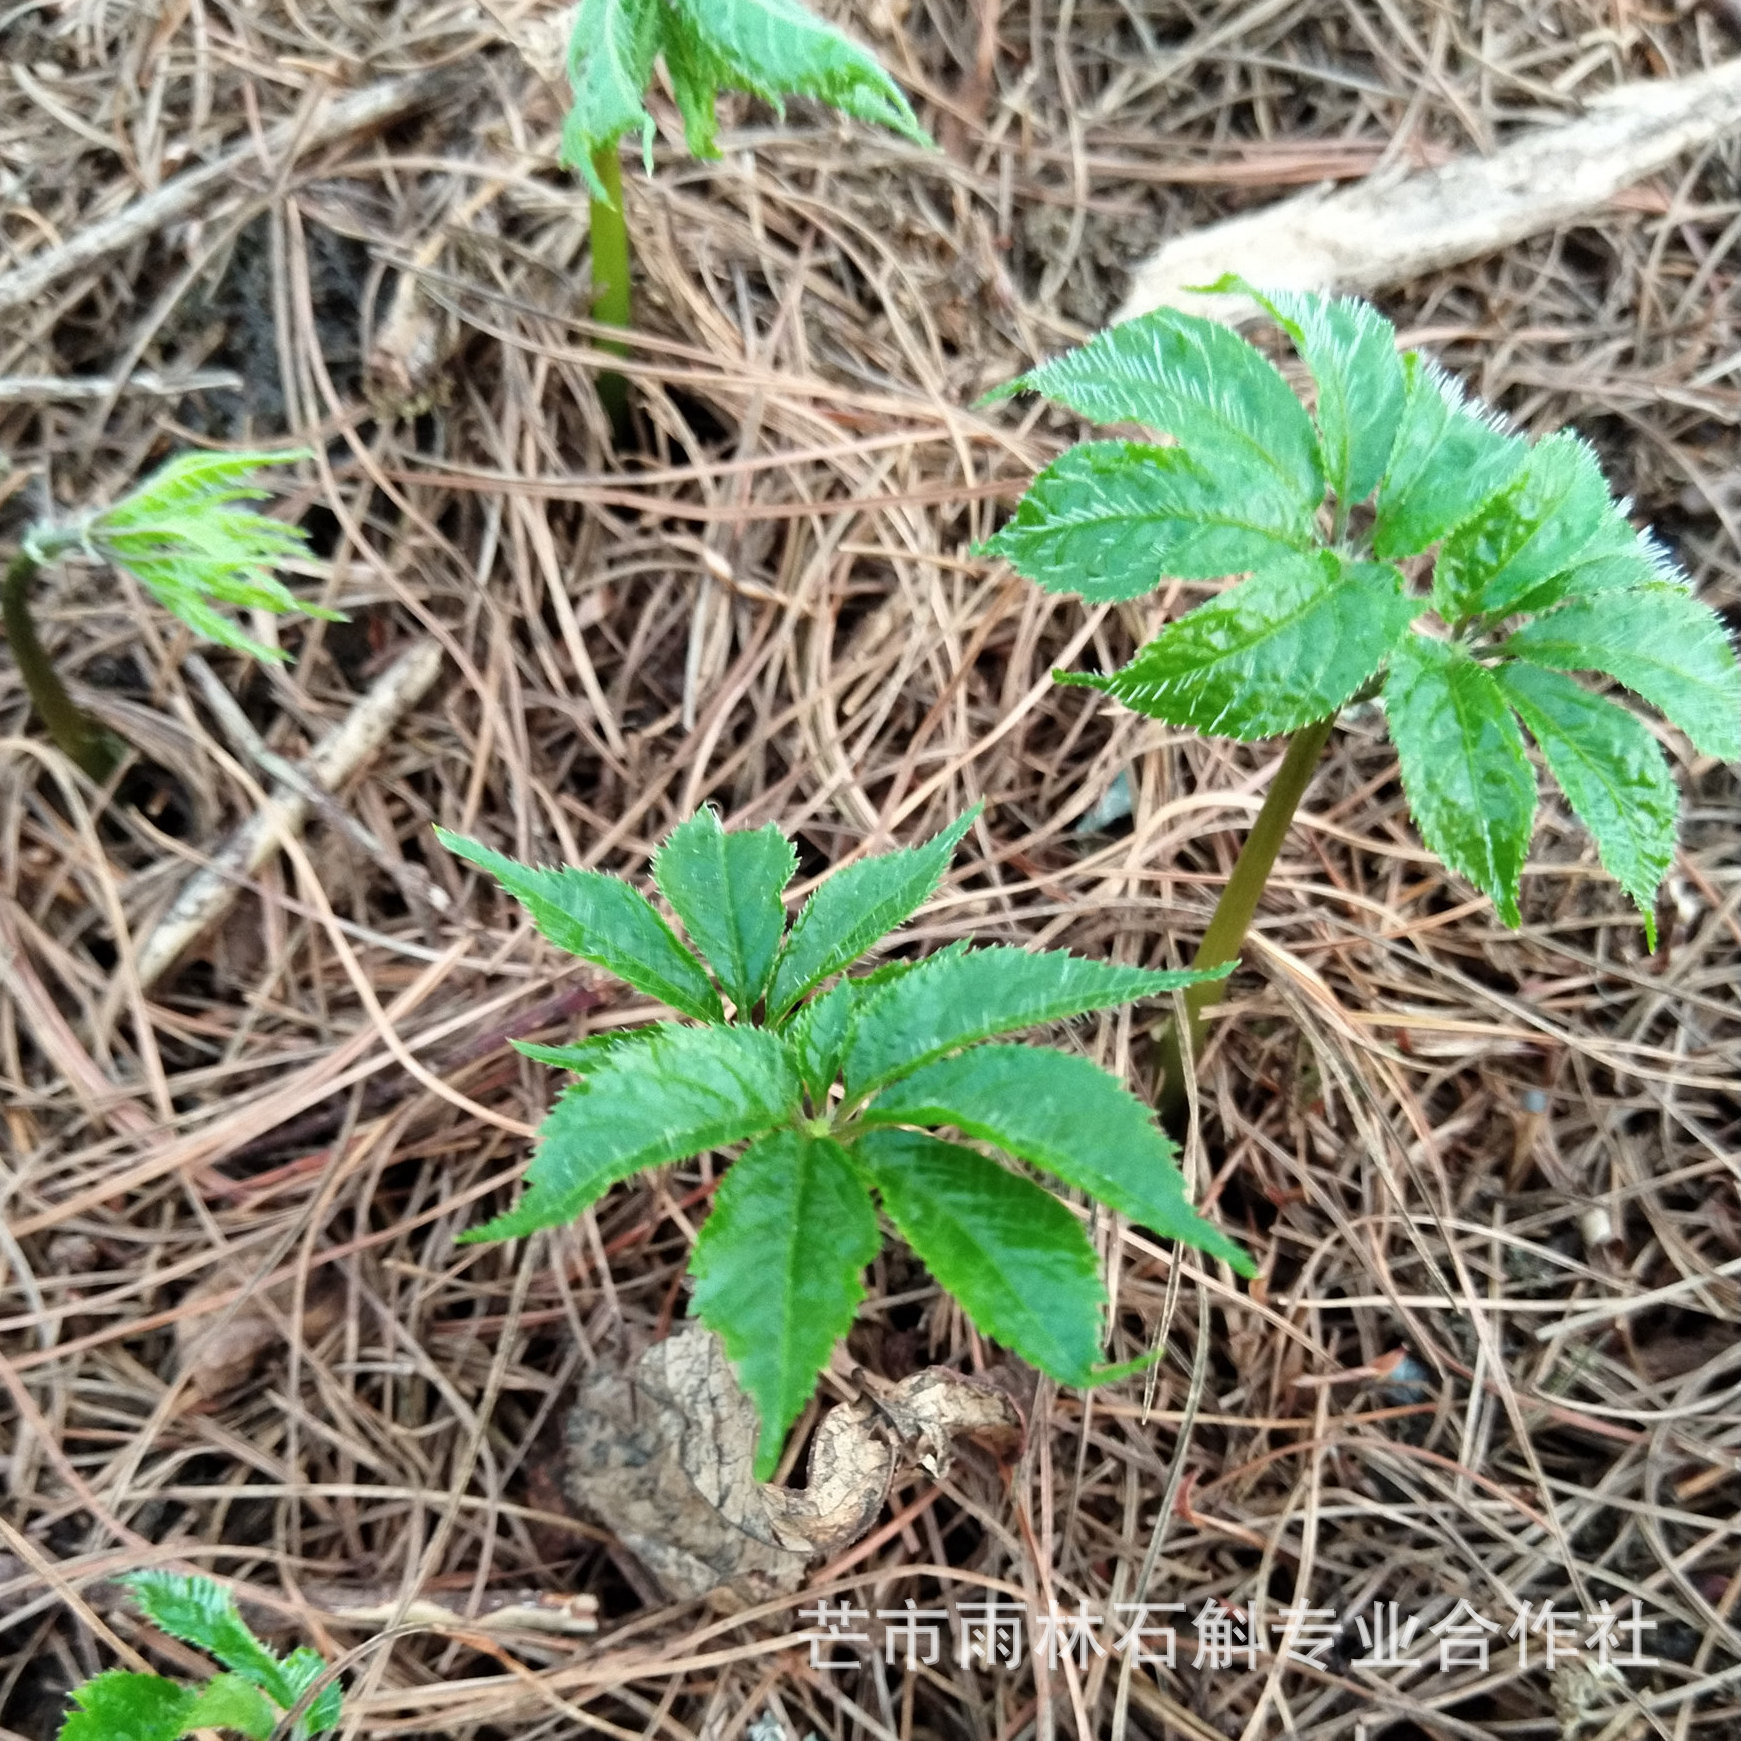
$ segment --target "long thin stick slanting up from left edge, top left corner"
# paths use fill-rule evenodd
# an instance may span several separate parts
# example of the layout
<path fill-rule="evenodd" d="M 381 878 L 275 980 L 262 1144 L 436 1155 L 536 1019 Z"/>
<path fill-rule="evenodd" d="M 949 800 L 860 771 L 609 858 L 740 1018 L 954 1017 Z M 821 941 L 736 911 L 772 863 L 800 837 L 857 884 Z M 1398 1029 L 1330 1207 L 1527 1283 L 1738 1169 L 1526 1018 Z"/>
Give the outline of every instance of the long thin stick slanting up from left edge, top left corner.
<path fill-rule="evenodd" d="M 266 132 L 265 150 L 244 138 L 223 157 L 214 157 L 198 169 L 185 169 L 141 198 L 122 205 L 118 212 L 99 218 L 84 230 L 73 232 L 59 247 L 45 249 L 23 266 L 0 273 L 0 315 L 33 303 L 57 279 L 94 266 L 99 259 L 132 247 L 155 235 L 167 223 L 198 209 L 211 193 L 259 179 L 266 171 L 277 171 L 277 158 L 286 151 L 312 151 L 324 145 L 385 122 L 397 120 L 407 110 L 428 97 L 449 91 L 463 71 L 444 68 L 432 73 L 411 73 L 406 78 L 388 78 L 366 91 L 352 91 L 320 104 L 313 115 L 298 115 L 279 122 Z M 254 172 L 252 176 L 249 172 Z"/>

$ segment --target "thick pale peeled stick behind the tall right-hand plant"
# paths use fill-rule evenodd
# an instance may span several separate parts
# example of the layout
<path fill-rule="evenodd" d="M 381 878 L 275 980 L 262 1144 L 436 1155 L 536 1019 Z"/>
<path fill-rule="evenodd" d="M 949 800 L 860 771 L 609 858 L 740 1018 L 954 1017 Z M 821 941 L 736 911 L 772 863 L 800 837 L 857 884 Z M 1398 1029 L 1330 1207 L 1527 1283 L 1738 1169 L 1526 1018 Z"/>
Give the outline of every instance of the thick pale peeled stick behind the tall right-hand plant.
<path fill-rule="evenodd" d="M 1236 272 L 1264 289 L 1367 294 L 1570 223 L 1741 125 L 1741 59 L 1689 78 L 1647 78 L 1591 101 L 1492 157 L 1424 174 L 1368 176 L 1297 195 L 1168 242 L 1132 275 L 1118 319 L 1187 308 L 1257 313 L 1243 296 L 1193 296 Z"/>

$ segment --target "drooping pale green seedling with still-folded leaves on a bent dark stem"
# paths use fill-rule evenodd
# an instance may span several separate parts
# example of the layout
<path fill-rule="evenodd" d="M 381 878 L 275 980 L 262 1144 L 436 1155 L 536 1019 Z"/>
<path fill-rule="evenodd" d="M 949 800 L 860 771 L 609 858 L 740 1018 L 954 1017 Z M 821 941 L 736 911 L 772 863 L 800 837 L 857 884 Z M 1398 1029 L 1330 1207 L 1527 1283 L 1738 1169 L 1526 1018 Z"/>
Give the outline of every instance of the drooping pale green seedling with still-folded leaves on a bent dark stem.
<path fill-rule="evenodd" d="M 301 611 L 341 620 L 338 611 L 303 604 L 273 575 L 308 554 L 306 534 L 282 521 L 239 507 L 266 494 L 254 474 L 287 465 L 303 453 L 178 454 L 113 507 L 68 524 L 31 526 L 7 564 L 5 632 L 24 688 L 54 743 L 92 780 L 106 780 L 125 745 L 66 693 L 30 608 L 37 576 L 82 554 L 125 569 L 164 609 L 197 635 L 261 660 L 282 660 L 277 648 L 245 635 L 218 604 L 244 609 Z"/>

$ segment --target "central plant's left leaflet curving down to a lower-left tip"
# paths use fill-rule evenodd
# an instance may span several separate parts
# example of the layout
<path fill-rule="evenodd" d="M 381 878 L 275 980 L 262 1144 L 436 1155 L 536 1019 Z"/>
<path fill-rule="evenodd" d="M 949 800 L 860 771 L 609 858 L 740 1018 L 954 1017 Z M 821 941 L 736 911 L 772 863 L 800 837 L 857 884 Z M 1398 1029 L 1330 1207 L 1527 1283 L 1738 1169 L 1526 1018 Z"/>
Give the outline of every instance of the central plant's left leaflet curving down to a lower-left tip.
<path fill-rule="evenodd" d="M 620 1179 L 686 1161 L 787 1123 L 797 1069 L 778 1034 L 759 1027 L 663 1024 L 608 1052 L 538 1126 L 526 1193 L 505 1215 L 460 1234 L 519 1240 L 561 1227 Z"/>

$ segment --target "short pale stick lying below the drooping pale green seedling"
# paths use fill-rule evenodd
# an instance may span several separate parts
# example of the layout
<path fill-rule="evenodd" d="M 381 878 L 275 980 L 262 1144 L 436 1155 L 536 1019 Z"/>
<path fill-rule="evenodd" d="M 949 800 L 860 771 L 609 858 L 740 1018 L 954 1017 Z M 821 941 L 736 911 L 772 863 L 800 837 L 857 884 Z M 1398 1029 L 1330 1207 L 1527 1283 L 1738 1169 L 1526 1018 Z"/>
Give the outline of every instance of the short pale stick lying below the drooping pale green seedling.
<path fill-rule="evenodd" d="M 303 778 L 327 790 L 343 785 L 428 695 L 439 672 L 440 648 L 434 641 L 421 641 L 400 655 L 345 721 L 313 747 L 301 764 Z M 188 877 L 174 905 L 139 947 L 143 985 L 155 984 L 183 949 L 235 905 L 242 881 L 277 851 L 286 836 L 301 829 L 312 808 L 301 792 L 277 787 L 268 806 L 235 830 L 212 864 Z"/>

